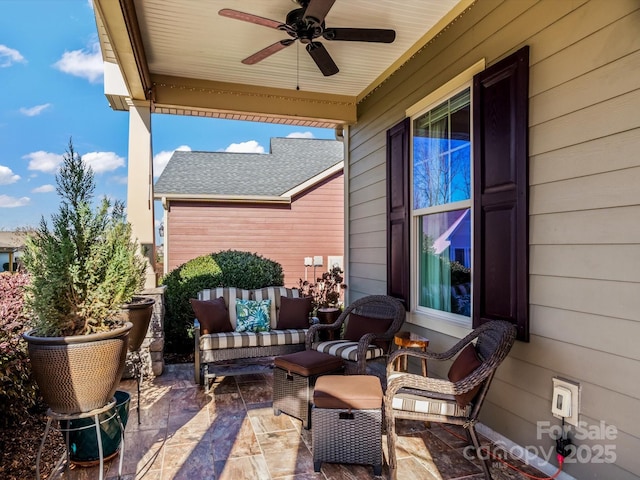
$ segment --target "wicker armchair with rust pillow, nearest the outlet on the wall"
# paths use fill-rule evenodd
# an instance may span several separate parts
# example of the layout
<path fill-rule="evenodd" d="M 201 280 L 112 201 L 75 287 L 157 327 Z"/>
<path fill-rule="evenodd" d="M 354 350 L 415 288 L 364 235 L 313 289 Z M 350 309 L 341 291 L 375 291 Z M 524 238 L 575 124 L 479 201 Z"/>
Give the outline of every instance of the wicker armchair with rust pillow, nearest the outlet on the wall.
<path fill-rule="evenodd" d="M 473 444 L 476 452 L 479 452 L 480 444 L 475 424 L 496 369 L 509 353 L 515 337 L 516 329 L 512 324 L 494 320 L 476 328 L 444 353 L 400 349 L 390 355 L 387 364 L 387 391 L 384 404 L 389 445 L 389 470 L 392 479 L 397 478 L 395 421 L 398 418 L 461 425 L 466 429 L 470 443 Z M 476 340 L 475 352 L 473 348 L 465 348 L 474 340 Z M 459 352 L 462 352 L 462 355 L 458 355 Z M 470 355 L 474 357 L 474 361 L 471 362 L 472 364 L 467 362 L 462 370 L 466 368 L 467 371 L 471 371 L 459 378 L 461 377 L 459 367 L 464 361 L 459 362 L 458 358 L 463 359 L 468 352 L 471 352 Z M 394 371 L 395 360 L 402 355 L 438 361 L 449 360 L 458 355 L 454 361 L 454 365 L 457 364 L 455 367 L 457 374 L 452 373 L 454 365 L 449 371 L 449 378 L 452 381 L 396 372 Z M 463 398 L 465 396 L 466 399 Z M 482 455 L 482 458 L 485 477 L 491 479 L 488 459 L 486 455 Z"/>

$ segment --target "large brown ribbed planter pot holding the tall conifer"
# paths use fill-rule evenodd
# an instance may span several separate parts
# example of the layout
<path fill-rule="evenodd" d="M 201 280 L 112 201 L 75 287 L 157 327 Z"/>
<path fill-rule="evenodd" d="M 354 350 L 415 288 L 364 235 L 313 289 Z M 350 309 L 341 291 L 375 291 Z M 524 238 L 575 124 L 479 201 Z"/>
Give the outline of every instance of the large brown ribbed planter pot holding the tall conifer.
<path fill-rule="evenodd" d="M 49 408 L 74 414 L 107 405 L 122 377 L 132 327 L 71 337 L 25 333 L 33 376 Z"/>

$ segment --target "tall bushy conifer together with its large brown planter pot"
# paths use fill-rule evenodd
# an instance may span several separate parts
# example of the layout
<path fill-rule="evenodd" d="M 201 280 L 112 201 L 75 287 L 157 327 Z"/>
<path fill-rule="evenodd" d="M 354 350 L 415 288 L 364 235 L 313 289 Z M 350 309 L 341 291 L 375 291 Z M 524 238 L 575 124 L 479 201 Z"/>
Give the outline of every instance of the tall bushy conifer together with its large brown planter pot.
<path fill-rule="evenodd" d="M 23 335 L 34 378 L 56 413 L 102 408 L 122 376 L 131 323 L 119 317 L 144 282 L 146 263 L 124 205 L 92 205 L 95 180 L 69 142 L 51 226 L 44 217 L 22 257 L 31 280 L 25 304 L 34 328 Z"/>

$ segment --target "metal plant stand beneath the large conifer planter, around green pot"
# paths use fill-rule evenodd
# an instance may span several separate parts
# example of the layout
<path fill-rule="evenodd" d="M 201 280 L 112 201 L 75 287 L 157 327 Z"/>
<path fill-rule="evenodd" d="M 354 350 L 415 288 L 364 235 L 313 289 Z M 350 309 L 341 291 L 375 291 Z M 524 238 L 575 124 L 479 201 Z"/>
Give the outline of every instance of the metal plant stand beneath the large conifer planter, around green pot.
<path fill-rule="evenodd" d="M 95 428 L 96 430 L 96 441 L 98 444 L 98 452 L 99 452 L 99 456 L 100 456 L 100 480 L 103 480 L 104 477 L 104 452 L 102 450 L 102 436 L 100 433 L 100 424 L 104 423 L 104 422 L 108 422 L 110 420 L 113 419 L 113 416 L 115 416 L 118 419 L 118 422 L 120 423 L 120 460 L 118 463 L 118 479 L 120 479 L 122 477 L 122 461 L 124 458 L 124 424 L 122 422 L 122 418 L 120 418 L 120 414 L 118 413 L 118 409 L 115 408 L 116 406 L 116 399 L 114 398 L 111 402 L 109 402 L 107 405 L 105 405 L 102 408 L 97 408 L 95 410 L 91 410 L 90 412 L 84 412 L 84 413 L 75 413 L 75 414 L 63 414 L 63 413 L 57 413 L 54 412 L 53 410 L 49 409 L 47 410 L 47 426 L 44 429 L 44 435 L 42 437 L 42 442 L 40 442 L 40 448 L 38 449 L 38 455 L 36 456 L 36 480 L 40 480 L 40 458 L 42 456 L 42 450 L 44 448 L 45 442 L 47 440 L 47 436 L 49 435 L 49 431 L 51 429 L 54 430 L 58 430 L 59 432 L 61 432 L 64 436 L 65 439 L 65 454 L 60 458 L 60 460 L 58 460 L 58 463 L 56 463 L 55 467 L 54 467 L 54 471 L 57 470 L 61 465 L 62 462 L 65 460 L 67 460 L 67 467 L 69 466 L 70 463 L 70 459 L 69 459 L 69 432 L 71 431 L 75 431 L 75 430 L 82 430 L 82 429 L 86 429 L 86 428 Z M 108 412 L 109 410 L 113 409 L 114 410 L 114 414 L 112 417 L 109 417 L 106 420 L 100 420 L 99 416 L 103 413 Z M 87 426 L 83 426 L 83 427 L 79 427 L 79 428 L 71 428 L 71 421 L 72 420 L 80 420 L 82 418 L 93 418 L 93 424 L 87 425 Z M 53 422 L 56 422 L 56 426 L 52 426 Z M 61 422 L 65 422 L 66 427 L 62 426 Z"/>

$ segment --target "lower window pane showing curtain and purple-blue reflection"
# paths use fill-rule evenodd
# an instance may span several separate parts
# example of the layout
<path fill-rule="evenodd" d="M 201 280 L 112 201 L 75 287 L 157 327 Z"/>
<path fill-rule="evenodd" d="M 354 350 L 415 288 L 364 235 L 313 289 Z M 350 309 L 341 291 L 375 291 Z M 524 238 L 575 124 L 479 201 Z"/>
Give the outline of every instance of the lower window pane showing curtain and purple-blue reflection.
<path fill-rule="evenodd" d="M 419 305 L 471 316 L 471 210 L 420 217 Z"/>

